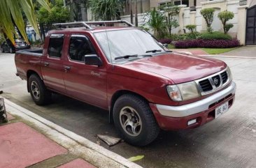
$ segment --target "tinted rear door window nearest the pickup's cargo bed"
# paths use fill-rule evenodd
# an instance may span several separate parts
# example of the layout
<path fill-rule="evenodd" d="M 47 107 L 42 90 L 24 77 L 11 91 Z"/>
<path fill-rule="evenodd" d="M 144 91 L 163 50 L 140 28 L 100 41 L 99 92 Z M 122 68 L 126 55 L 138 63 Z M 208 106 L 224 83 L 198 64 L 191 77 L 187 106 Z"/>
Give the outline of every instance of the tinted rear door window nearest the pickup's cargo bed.
<path fill-rule="evenodd" d="M 61 57 L 64 42 L 64 34 L 52 34 L 48 47 L 48 54 L 51 57 Z"/>

